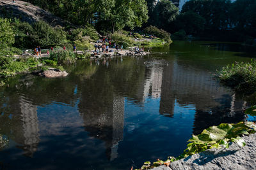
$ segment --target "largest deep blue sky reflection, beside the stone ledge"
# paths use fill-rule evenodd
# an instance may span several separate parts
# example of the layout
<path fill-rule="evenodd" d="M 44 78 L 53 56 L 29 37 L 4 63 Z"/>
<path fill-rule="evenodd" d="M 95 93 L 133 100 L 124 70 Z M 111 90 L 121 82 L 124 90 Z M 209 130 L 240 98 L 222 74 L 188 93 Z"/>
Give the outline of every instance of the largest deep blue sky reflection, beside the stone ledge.
<path fill-rule="evenodd" d="M 140 164 L 145 161 L 143 155 L 148 155 L 150 161 L 166 159 L 180 155 L 186 148 L 193 131 L 195 106 L 181 106 L 175 100 L 173 118 L 165 118 L 159 115 L 159 102 L 160 98 L 147 98 L 141 110 L 125 99 L 124 141 L 119 144 L 123 159 L 138 155 L 136 160 Z"/>

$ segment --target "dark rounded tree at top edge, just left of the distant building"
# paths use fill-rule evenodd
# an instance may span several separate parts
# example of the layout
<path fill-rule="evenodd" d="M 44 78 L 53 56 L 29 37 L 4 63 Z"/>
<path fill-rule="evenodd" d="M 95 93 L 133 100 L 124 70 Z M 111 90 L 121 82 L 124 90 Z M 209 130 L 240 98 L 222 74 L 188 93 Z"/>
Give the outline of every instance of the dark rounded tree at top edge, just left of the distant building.
<path fill-rule="evenodd" d="M 177 15 L 179 8 L 177 8 L 171 1 L 161 0 L 154 8 L 154 25 L 159 28 L 166 29 L 170 26 Z"/>

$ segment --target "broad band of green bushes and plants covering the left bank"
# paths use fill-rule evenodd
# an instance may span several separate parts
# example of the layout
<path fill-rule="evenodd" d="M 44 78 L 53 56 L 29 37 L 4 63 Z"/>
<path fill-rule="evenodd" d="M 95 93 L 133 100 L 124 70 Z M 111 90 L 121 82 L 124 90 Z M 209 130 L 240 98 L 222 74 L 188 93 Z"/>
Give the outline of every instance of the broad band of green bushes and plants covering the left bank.
<path fill-rule="evenodd" d="M 101 38 L 92 26 L 65 31 L 63 28 L 51 27 L 44 21 L 38 21 L 30 25 L 17 19 L 8 20 L 0 18 L 0 28 L 4 29 L 5 33 L 0 50 L 0 77 L 3 78 L 19 73 L 28 73 L 35 69 L 47 70 L 47 67 L 55 67 L 63 71 L 64 65 L 72 64 L 77 59 L 90 59 L 92 55 L 95 55 L 95 45 L 100 46 L 101 49 L 102 45 L 108 45 L 109 49 L 111 49 L 116 44 L 119 45 L 117 50 L 120 51 L 121 46 L 124 49 L 132 46 L 138 46 L 140 49 L 143 47 L 144 49 L 151 46 L 170 45 L 172 43 L 170 34 L 157 29 L 157 27 L 146 28 L 145 32 L 147 34 L 116 31 Z M 155 35 L 160 38 L 157 38 Z M 102 42 L 102 39 L 109 39 L 109 41 Z M 101 43 L 98 43 L 99 41 Z M 34 51 L 33 53 L 31 50 L 31 53 L 33 53 L 31 55 L 31 53 L 20 50 L 20 48 L 30 48 L 33 44 L 49 48 L 44 49 L 44 57 L 41 57 L 39 52 Z M 74 45 L 76 45 L 76 50 L 81 50 L 82 53 L 75 52 Z M 54 50 L 51 50 L 51 48 Z M 101 52 L 100 48 L 99 53 L 107 54 L 105 50 L 103 52 L 103 49 Z M 46 50 L 47 55 L 45 53 Z M 25 57 L 22 54 L 25 54 Z M 0 85 L 4 85 L 3 80 L 1 80 Z"/>

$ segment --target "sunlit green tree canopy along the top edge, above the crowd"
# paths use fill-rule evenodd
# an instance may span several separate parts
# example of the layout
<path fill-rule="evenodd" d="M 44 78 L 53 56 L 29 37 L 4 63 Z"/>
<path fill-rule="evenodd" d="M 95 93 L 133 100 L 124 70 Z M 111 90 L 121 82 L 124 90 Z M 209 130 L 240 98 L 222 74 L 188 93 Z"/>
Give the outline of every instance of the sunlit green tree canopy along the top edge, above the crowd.
<path fill-rule="evenodd" d="M 27 0 L 77 25 L 106 24 L 111 32 L 127 26 L 140 27 L 148 20 L 145 0 Z M 65 16 L 65 17 L 63 17 Z"/>

